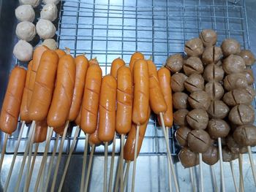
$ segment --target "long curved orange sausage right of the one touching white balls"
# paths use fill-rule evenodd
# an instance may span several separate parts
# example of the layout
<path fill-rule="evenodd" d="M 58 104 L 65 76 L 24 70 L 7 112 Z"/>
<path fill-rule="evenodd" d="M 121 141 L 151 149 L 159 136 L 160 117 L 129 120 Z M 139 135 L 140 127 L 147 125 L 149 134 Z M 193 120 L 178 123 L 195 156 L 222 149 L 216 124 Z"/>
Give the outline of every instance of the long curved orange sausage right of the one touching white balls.
<path fill-rule="evenodd" d="M 75 87 L 75 61 L 67 54 L 59 59 L 53 101 L 47 117 L 50 127 L 62 126 L 69 116 Z"/>

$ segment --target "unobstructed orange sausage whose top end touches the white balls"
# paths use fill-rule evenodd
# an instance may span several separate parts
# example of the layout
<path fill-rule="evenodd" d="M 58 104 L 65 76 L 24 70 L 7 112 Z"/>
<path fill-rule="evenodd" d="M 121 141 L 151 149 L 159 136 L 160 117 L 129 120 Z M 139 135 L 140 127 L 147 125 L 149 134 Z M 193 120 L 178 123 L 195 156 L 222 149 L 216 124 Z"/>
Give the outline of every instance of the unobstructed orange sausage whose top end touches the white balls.
<path fill-rule="evenodd" d="M 29 105 L 29 118 L 41 121 L 48 115 L 59 57 L 53 50 L 42 53 Z"/>

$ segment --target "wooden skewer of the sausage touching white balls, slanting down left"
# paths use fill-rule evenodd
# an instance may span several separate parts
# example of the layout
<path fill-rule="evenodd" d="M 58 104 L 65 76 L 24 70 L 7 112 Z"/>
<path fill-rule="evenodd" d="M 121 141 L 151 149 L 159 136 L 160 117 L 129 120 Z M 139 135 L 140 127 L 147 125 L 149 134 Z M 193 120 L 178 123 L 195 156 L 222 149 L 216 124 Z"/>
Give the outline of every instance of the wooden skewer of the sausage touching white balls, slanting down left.
<path fill-rule="evenodd" d="M 30 146 L 30 141 L 32 139 L 32 136 L 34 134 L 34 126 L 36 125 L 36 122 L 33 120 L 32 121 L 32 124 L 31 124 L 31 127 L 29 129 L 29 138 L 27 140 L 27 144 L 26 144 L 26 148 L 25 148 L 25 152 L 24 152 L 24 155 L 23 155 L 23 159 L 22 159 L 22 163 L 21 163 L 21 166 L 20 166 L 20 172 L 18 174 L 18 180 L 17 180 L 17 183 L 15 185 L 15 192 L 18 192 L 19 188 L 20 188 L 20 181 L 21 181 L 21 177 L 23 175 L 23 170 L 24 170 L 24 166 L 25 166 L 25 163 L 26 163 L 26 157 L 28 155 L 28 152 L 29 152 L 29 146 Z"/>

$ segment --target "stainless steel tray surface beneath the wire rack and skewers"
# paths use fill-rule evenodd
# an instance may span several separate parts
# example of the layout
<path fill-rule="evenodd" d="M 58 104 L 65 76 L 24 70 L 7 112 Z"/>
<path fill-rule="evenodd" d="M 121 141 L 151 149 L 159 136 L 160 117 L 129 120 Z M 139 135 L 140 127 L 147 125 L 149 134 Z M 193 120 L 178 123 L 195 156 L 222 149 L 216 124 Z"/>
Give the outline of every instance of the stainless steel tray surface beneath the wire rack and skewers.
<path fill-rule="evenodd" d="M 14 9 L 17 4 L 17 1 L 3 1 L 1 9 L 0 45 L 3 47 L 0 51 L 1 100 L 3 99 L 7 85 L 8 72 L 15 64 L 12 56 L 12 48 L 17 41 L 17 38 L 15 38 L 15 23 L 17 21 L 14 16 Z M 253 38 L 254 36 L 251 36 L 252 44 L 250 44 L 248 34 L 249 31 L 251 34 L 255 34 L 255 8 L 256 4 L 253 0 L 63 0 L 59 4 L 60 12 L 59 20 L 56 22 L 58 28 L 56 38 L 59 41 L 59 47 L 71 48 L 73 55 L 86 53 L 88 58 L 97 56 L 103 74 L 110 72 L 110 64 L 114 58 L 124 58 L 124 61 L 128 64 L 130 55 L 136 50 L 144 53 L 147 58 L 152 55 L 157 66 L 162 66 L 165 63 L 167 55 L 184 53 L 184 42 L 192 37 L 197 37 L 203 28 L 214 28 L 217 31 L 219 36 L 218 45 L 223 39 L 234 37 L 241 42 L 242 47 L 252 47 L 252 50 L 256 53 L 256 39 Z M 246 10 L 248 11 L 247 15 Z M 249 21 L 249 25 L 247 24 L 247 20 Z M 10 23 L 14 23 L 14 25 L 10 25 Z M 37 42 L 38 40 L 34 44 Z M 2 45 L 8 45 L 7 49 L 4 49 Z M 23 134 L 23 141 L 19 149 L 20 156 L 16 160 L 14 173 L 17 173 L 19 170 L 22 159 L 21 155 L 25 148 L 27 130 L 26 128 Z M 73 135 L 74 131 L 70 130 L 69 137 L 64 146 L 66 153 L 72 142 Z M 13 153 L 17 137 L 18 131 L 8 141 L 7 154 Z M 80 132 L 75 148 L 76 155 L 72 155 L 63 191 L 79 190 L 82 167 L 81 153 L 83 153 L 84 139 L 84 134 Z M 3 136 L 1 134 L 2 140 Z M 176 160 L 175 167 L 181 191 L 192 191 L 189 170 L 184 169 L 176 159 L 175 154 L 177 153 L 178 147 L 176 147 L 173 140 L 173 129 L 170 131 L 170 142 L 173 158 Z M 117 140 L 115 169 L 120 148 L 119 143 L 119 140 Z M 36 180 L 44 145 L 44 143 L 39 145 L 39 156 L 36 160 L 30 189 L 33 188 Z M 53 149 L 53 140 L 50 148 L 51 150 Z M 111 148 L 110 145 L 110 152 Z M 90 191 L 102 191 L 103 150 L 103 146 L 96 148 Z M 162 130 L 157 127 L 156 117 L 152 116 L 146 131 L 146 139 L 143 142 L 141 154 L 138 158 L 136 191 L 168 191 L 165 151 Z M 255 155 L 254 157 L 256 158 Z M 12 155 L 6 155 L 1 172 L 0 190 L 4 186 L 11 161 Z M 48 158 L 49 161 L 50 158 Z M 59 184 L 65 161 L 66 155 L 61 159 L 57 185 Z M 238 183 L 238 161 L 235 161 L 234 165 Z M 230 166 L 225 163 L 224 167 L 226 191 L 234 191 Z M 209 166 L 204 164 L 205 190 L 213 191 L 214 188 L 211 183 L 209 170 Z M 219 164 L 214 165 L 214 170 L 219 185 Z M 198 184 L 199 168 L 195 167 L 195 171 L 197 172 L 196 179 Z M 16 180 L 17 175 L 13 174 L 10 191 L 13 191 Z M 130 191 L 130 182 L 131 174 L 129 174 L 129 187 L 127 191 Z M 248 155 L 244 155 L 244 182 L 246 191 L 256 191 Z M 220 185 L 218 188 L 220 188 Z"/>

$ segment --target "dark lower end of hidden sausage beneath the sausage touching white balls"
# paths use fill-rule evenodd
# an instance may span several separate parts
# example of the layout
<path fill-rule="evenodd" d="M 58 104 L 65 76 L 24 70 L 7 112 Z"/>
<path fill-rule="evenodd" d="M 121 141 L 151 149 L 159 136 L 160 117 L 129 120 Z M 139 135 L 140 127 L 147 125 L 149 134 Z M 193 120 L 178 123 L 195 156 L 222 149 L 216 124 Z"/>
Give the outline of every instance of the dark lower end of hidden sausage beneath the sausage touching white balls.
<path fill-rule="evenodd" d="M 34 142 L 44 142 L 47 137 L 47 120 L 37 121 L 36 129 L 34 131 Z"/>

